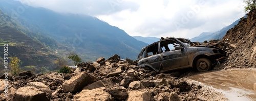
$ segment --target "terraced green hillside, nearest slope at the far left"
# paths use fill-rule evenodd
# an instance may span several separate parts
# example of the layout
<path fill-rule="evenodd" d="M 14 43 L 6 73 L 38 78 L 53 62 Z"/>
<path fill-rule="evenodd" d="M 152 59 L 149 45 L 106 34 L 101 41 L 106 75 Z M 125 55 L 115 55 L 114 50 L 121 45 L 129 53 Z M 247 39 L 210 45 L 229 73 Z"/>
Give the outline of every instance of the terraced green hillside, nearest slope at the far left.
<path fill-rule="evenodd" d="M 0 48 L 4 49 L 5 46 L 8 46 L 8 48 L 5 48 L 8 57 L 17 56 L 22 61 L 22 67 L 30 67 L 31 69 L 45 67 L 53 70 L 53 67 L 55 67 L 54 61 L 59 56 L 38 41 L 28 37 L 15 26 L 18 26 L 18 23 L 0 9 Z M 1 52 L 0 55 L 4 56 L 4 52 Z"/>

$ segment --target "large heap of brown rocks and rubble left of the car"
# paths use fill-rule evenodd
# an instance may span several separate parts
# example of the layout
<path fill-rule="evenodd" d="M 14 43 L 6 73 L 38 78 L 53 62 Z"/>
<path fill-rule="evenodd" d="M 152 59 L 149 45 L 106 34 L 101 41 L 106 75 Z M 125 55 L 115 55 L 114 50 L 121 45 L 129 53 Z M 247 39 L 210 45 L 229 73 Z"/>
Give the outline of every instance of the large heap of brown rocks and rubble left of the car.
<path fill-rule="evenodd" d="M 199 84 L 156 74 L 127 60 L 118 55 L 100 57 L 96 62 L 78 64 L 70 74 L 23 72 L 11 76 L 8 97 L 1 91 L 0 100 L 222 100 L 219 93 L 202 90 Z M 210 93 L 202 96 L 205 91 Z"/>

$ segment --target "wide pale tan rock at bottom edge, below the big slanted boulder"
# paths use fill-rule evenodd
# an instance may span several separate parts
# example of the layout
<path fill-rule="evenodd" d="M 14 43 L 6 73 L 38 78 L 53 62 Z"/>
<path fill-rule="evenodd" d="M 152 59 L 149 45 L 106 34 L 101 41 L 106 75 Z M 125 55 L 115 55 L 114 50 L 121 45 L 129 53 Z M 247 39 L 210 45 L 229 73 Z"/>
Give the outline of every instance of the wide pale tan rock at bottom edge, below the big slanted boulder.
<path fill-rule="evenodd" d="M 111 94 L 104 91 L 104 87 L 92 90 L 84 89 L 78 94 L 74 95 L 74 101 L 88 101 L 88 100 L 113 100 Z"/>

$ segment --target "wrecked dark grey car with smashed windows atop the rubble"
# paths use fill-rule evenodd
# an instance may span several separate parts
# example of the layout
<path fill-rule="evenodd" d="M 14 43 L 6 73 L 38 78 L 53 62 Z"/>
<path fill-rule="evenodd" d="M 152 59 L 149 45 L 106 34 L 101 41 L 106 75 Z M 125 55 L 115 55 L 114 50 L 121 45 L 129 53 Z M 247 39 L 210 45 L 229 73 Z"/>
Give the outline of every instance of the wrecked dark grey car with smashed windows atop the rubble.
<path fill-rule="evenodd" d="M 166 38 L 148 45 L 138 55 L 138 66 L 166 72 L 185 68 L 196 68 L 200 72 L 212 69 L 226 52 L 215 46 L 190 46 L 183 38 Z"/>

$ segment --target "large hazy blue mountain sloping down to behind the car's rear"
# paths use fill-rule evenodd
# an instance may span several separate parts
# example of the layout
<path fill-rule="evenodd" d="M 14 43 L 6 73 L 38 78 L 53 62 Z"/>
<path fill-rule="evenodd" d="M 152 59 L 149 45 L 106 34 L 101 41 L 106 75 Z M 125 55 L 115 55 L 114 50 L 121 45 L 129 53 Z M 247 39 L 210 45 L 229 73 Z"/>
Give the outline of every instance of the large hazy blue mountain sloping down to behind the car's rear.
<path fill-rule="evenodd" d="M 24 7 L 24 12 L 15 11 L 17 7 Z M 10 0 L 0 1 L 0 8 L 25 27 L 57 41 L 58 46 L 53 50 L 64 57 L 74 52 L 83 61 L 95 61 L 98 57 L 108 58 L 114 54 L 136 59 L 141 48 L 147 45 L 96 17 L 60 14 Z"/>

